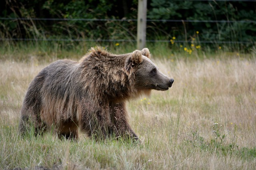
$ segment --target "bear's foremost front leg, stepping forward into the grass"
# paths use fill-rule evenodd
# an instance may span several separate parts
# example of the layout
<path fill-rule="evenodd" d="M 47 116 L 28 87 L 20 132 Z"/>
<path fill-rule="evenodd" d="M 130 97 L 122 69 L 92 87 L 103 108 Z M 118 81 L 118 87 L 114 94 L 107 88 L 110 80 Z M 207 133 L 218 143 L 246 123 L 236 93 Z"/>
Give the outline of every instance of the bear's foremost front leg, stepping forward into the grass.
<path fill-rule="evenodd" d="M 111 130 L 116 135 L 138 140 L 138 136 L 128 124 L 125 103 L 110 104 L 110 115 L 112 120 Z"/>

